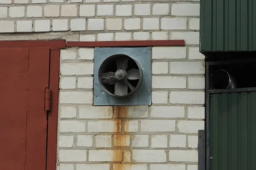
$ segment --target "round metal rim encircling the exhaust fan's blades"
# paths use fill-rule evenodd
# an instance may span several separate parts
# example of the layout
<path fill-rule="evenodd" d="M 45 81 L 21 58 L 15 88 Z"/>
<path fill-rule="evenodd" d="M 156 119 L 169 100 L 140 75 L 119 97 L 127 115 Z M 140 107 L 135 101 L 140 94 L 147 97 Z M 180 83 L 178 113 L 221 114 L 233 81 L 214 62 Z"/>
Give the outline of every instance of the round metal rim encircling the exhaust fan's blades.
<path fill-rule="evenodd" d="M 134 93 L 136 93 L 138 91 L 138 89 L 140 88 L 141 86 L 141 83 L 143 81 L 143 71 L 142 71 L 142 68 L 140 67 L 140 64 L 133 58 L 129 57 L 128 55 L 125 55 L 125 54 L 115 54 L 113 56 L 110 56 L 108 57 L 107 59 L 105 59 L 103 62 L 102 62 L 102 65 L 99 67 L 99 73 L 98 73 L 98 78 L 99 78 L 99 82 L 100 82 L 100 77 L 102 75 L 102 73 L 104 73 L 104 70 L 107 66 L 107 63 L 110 62 L 112 59 L 116 59 L 117 57 L 128 57 L 129 59 L 132 59 L 138 66 L 139 68 L 139 71 L 140 71 L 140 75 L 141 75 L 141 78 L 139 79 L 139 82 L 137 84 L 137 86 L 134 88 L 134 90 L 132 90 L 130 93 L 126 94 L 126 95 L 123 95 L 123 96 L 117 96 L 113 93 L 111 93 L 111 91 L 108 90 L 108 88 L 106 88 L 106 86 L 104 84 L 101 84 L 102 85 L 102 88 L 110 95 L 112 96 L 116 96 L 116 97 L 126 97 L 126 96 L 130 96 Z M 127 70 L 126 70 L 127 71 Z"/>

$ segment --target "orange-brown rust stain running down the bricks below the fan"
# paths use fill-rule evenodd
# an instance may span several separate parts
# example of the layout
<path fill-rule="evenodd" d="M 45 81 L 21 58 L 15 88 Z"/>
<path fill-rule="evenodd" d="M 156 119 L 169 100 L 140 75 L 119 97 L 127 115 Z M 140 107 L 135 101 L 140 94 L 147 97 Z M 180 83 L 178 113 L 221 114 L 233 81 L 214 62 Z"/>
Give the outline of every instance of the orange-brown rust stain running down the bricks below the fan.
<path fill-rule="evenodd" d="M 119 118 L 128 117 L 128 107 L 127 106 L 114 106 L 113 107 L 114 121 L 115 121 L 115 131 L 118 134 L 113 135 L 113 147 L 125 148 L 125 150 L 113 152 L 113 161 L 119 161 L 118 164 L 113 164 L 113 170 L 130 170 L 131 164 L 123 164 L 131 162 L 131 134 L 125 133 L 124 130 L 128 130 L 128 123 L 124 123 Z M 127 122 L 127 121 L 125 121 Z M 116 162 L 117 163 L 117 162 Z"/>

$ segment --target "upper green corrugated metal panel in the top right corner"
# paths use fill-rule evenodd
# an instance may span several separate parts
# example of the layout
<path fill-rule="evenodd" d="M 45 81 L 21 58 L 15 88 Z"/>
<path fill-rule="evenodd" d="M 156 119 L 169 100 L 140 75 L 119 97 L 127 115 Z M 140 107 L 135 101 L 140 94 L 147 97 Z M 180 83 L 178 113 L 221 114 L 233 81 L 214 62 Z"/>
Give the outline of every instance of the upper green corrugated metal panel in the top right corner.
<path fill-rule="evenodd" d="M 200 51 L 256 51 L 255 0 L 201 0 Z"/>

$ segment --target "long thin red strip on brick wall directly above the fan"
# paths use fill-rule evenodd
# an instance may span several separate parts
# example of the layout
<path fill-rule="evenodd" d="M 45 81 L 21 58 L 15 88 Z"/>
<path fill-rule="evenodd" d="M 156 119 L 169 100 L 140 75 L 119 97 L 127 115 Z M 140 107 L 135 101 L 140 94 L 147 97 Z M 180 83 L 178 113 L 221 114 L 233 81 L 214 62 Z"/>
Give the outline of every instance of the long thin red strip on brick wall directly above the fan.
<path fill-rule="evenodd" d="M 67 47 L 146 47 L 146 46 L 184 46 L 184 40 L 145 40 L 145 41 L 94 41 L 67 42 Z"/>

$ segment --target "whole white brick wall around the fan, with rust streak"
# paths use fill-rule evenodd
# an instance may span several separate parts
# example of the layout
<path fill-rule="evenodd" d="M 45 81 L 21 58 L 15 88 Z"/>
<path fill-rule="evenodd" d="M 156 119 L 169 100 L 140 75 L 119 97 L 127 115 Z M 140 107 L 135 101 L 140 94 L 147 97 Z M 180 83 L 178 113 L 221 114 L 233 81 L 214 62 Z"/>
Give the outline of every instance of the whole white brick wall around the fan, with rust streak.
<path fill-rule="evenodd" d="M 0 0 L 0 33 L 185 40 L 152 48 L 152 106 L 121 114 L 92 106 L 93 48 L 61 50 L 57 170 L 197 169 L 197 133 L 204 129 L 199 8 L 197 0 Z"/>

